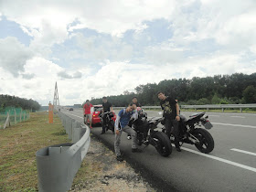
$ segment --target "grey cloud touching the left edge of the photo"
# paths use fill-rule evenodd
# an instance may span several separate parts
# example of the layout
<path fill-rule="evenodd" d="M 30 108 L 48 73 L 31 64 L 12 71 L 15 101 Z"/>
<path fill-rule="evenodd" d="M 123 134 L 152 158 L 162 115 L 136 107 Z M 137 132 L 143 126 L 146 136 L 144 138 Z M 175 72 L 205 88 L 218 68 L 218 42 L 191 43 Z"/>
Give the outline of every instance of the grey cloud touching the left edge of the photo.
<path fill-rule="evenodd" d="M 15 77 L 24 71 L 27 60 L 32 57 L 33 52 L 21 44 L 16 37 L 0 39 L 0 67 Z"/>

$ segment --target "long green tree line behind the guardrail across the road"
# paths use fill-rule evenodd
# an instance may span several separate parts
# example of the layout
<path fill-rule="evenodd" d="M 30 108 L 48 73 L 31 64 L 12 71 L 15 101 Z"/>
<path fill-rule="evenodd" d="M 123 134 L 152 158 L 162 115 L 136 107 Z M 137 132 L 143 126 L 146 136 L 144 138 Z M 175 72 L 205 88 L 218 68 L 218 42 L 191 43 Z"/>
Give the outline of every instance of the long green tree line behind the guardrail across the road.
<path fill-rule="evenodd" d="M 178 100 L 179 104 L 256 103 L 256 73 L 162 80 L 159 83 L 139 85 L 135 92 L 124 91 L 121 95 L 106 97 L 116 107 L 127 106 L 134 96 L 144 106 L 159 105 L 157 91 L 164 91 L 166 96 Z M 101 102 L 101 98 L 91 100 L 92 104 Z"/>

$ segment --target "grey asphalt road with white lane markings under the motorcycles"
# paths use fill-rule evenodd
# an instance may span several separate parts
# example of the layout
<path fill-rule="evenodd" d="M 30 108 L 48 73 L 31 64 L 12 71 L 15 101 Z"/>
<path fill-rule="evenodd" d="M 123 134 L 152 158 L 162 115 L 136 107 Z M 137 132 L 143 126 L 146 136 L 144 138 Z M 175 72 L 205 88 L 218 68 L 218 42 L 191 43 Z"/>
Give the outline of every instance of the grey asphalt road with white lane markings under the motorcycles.
<path fill-rule="evenodd" d="M 82 122 L 81 111 L 67 113 Z M 149 117 L 159 116 L 157 112 L 147 113 Z M 193 112 L 181 113 L 188 117 Z M 213 124 L 209 133 L 215 141 L 209 155 L 191 144 L 183 144 L 181 153 L 173 148 L 168 157 L 159 155 L 152 145 L 142 154 L 133 154 L 131 140 L 123 133 L 125 160 L 163 191 L 256 191 L 256 114 L 207 114 Z M 101 135 L 101 127 L 93 127 L 91 133 L 113 149 L 112 132 Z"/>

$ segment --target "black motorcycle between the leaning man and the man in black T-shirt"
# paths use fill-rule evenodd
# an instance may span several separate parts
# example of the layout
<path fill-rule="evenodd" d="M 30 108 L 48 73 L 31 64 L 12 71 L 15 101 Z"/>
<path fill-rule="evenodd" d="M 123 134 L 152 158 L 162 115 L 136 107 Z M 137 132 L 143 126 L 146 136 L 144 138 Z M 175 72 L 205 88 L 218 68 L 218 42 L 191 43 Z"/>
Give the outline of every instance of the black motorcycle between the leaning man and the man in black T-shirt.
<path fill-rule="evenodd" d="M 137 133 L 138 145 L 144 144 L 145 148 L 152 144 L 160 155 L 169 156 L 172 153 L 172 144 L 169 138 L 165 133 L 155 130 L 161 121 L 163 121 L 161 117 L 148 120 L 146 113 L 138 112 L 138 119 L 132 120 L 130 126 Z"/>

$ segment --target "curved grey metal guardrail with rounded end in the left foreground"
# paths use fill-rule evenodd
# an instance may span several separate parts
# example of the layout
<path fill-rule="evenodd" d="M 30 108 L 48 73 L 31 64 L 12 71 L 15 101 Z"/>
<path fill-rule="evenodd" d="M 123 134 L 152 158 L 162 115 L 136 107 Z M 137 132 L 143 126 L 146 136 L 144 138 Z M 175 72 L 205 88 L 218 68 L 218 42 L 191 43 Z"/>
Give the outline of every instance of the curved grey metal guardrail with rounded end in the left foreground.
<path fill-rule="evenodd" d="M 58 114 L 72 144 L 56 144 L 37 151 L 39 191 L 68 191 L 91 144 L 87 125 L 76 122 L 63 112 Z"/>

